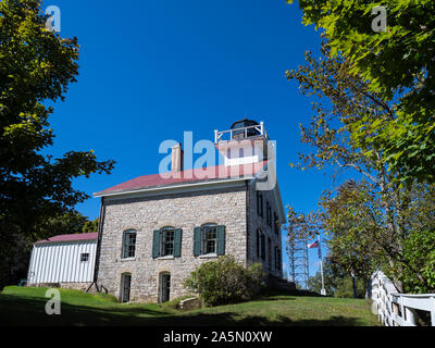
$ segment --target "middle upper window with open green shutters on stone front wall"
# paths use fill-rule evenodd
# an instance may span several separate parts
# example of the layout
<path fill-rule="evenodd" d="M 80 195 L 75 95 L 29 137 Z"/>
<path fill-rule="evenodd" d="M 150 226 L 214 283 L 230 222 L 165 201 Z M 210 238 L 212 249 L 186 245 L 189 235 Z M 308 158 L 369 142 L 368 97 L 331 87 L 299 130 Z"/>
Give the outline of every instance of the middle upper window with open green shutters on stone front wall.
<path fill-rule="evenodd" d="M 181 257 L 182 256 L 182 233 L 181 228 L 163 227 L 156 229 L 152 239 L 152 257 Z"/>

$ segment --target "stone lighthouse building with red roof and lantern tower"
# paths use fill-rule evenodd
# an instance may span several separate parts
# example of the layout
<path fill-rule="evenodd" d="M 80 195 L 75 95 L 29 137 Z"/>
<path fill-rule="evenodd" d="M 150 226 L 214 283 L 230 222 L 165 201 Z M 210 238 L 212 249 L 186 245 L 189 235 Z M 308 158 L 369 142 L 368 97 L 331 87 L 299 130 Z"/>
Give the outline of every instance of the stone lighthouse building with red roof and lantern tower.
<path fill-rule="evenodd" d="M 243 120 L 214 132 L 221 165 L 136 177 L 101 198 L 95 281 L 121 301 L 163 302 L 186 295 L 183 282 L 202 262 L 232 254 L 282 276 L 274 145 L 263 123 Z"/>

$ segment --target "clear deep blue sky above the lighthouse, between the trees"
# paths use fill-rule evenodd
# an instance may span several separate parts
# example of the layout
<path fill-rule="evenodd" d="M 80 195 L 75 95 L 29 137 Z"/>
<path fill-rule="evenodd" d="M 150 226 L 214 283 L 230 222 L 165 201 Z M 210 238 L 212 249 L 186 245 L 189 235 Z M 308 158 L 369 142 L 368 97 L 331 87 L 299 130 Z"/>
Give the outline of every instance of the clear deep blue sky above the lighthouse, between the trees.
<path fill-rule="evenodd" d="M 310 100 L 287 82 L 285 71 L 319 52 L 320 33 L 301 24 L 298 4 L 285 0 L 237 1 L 46 1 L 61 9 L 61 36 L 80 44 L 78 82 L 54 105 L 54 156 L 94 149 L 116 161 L 111 175 L 80 178 L 92 192 L 158 172 L 165 139 L 213 139 L 244 116 L 264 121 L 277 142 L 277 174 L 284 204 L 315 209 L 327 175 L 298 172 L 299 123 Z M 77 210 L 95 219 L 99 200 Z M 314 265 L 316 250 L 310 250 Z M 287 257 L 284 256 L 284 261 Z"/>

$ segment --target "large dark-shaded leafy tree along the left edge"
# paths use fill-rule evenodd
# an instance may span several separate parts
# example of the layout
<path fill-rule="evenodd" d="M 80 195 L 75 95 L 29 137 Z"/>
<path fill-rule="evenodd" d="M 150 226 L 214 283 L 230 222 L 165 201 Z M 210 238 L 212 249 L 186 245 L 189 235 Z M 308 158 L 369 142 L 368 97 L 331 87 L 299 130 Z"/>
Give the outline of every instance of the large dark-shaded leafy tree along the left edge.
<path fill-rule="evenodd" d="M 37 226 L 88 198 L 72 186 L 79 176 L 110 173 L 113 161 L 94 151 L 53 159 L 48 102 L 64 100 L 76 80 L 78 44 L 46 29 L 41 1 L 0 2 L 0 289 L 10 279 L 17 240 L 33 243 Z"/>

